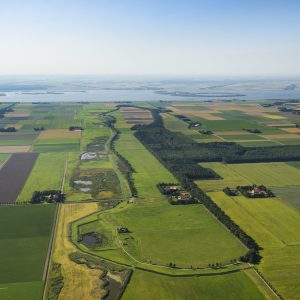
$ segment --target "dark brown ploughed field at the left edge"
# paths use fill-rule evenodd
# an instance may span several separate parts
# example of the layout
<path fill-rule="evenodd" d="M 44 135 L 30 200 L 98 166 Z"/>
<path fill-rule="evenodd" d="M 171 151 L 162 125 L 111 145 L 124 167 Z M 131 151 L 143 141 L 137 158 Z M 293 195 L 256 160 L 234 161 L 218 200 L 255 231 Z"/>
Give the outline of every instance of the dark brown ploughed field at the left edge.
<path fill-rule="evenodd" d="M 0 170 L 0 203 L 15 203 L 38 153 L 13 154 Z"/>

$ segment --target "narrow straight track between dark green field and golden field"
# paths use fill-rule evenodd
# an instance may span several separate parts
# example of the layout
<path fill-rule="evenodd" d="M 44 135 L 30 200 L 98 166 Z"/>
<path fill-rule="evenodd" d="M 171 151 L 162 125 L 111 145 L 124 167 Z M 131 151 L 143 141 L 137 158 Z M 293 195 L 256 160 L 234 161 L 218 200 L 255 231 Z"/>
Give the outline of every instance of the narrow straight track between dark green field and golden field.
<path fill-rule="evenodd" d="M 57 223 L 58 223 L 58 217 L 60 214 L 60 204 L 56 204 L 56 209 L 55 209 L 55 215 L 54 215 L 54 220 L 53 220 L 53 225 L 52 225 L 52 231 L 51 231 L 51 237 L 48 245 L 48 251 L 47 251 L 47 257 L 45 260 L 45 266 L 44 266 L 44 272 L 43 272 L 43 281 L 45 282 L 44 284 L 44 290 L 43 290 L 43 298 L 46 299 L 46 291 L 48 287 L 48 277 L 49 277 L 49 267 L 51 264 L 51 259 L 53 256 L 53 244 L 55 241 L 55 237 L 57 234 Z"/>

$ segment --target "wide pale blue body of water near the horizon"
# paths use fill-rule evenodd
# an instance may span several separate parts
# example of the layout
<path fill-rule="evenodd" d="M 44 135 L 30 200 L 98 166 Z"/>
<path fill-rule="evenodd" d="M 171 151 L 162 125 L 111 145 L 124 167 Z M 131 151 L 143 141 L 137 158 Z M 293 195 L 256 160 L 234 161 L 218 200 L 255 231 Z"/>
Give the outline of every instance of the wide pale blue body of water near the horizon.
<path fill-rule="evenodd" d="M 213 93 L 213 92 L 212 92 Z M 225 93 L 228 93 L 226 91 Z M 233 92 L 234 93 L 234 92 Z M 205 101 L 205 100 L 289 100 L 299 99 L 300 90 L 242 90 L 239 94 L 245 96 L 230 97 L 181 97 L 156 94 L 151 90 L 88 90 L 86 92 L 64 92 L 63 94 L 41 94 L 40 91 L 31 93 L 5 92 L 0 102 L 106 102 L 106 101 Z"/>

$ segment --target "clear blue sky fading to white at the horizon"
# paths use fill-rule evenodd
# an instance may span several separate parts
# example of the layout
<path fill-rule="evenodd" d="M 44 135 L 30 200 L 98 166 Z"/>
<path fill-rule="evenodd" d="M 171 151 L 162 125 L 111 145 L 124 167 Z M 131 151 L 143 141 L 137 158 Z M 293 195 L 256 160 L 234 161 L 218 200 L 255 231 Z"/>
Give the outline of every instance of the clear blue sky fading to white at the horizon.
<path fill-rule="evenodd" d="M 0 75 L 300 75 L 298 0 L 0 0 Z"/>

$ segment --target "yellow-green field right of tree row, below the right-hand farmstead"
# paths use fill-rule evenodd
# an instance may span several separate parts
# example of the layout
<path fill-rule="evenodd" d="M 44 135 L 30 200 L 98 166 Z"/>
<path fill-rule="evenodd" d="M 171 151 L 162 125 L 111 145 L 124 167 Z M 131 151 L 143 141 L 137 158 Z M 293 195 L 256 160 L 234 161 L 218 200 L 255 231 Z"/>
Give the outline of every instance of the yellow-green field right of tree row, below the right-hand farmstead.
<path fill-rule="evenodd" d="M 280 199 L 228 197 L 223 192 L 211 198 L 263 248 L 258 266 L 286 299 L 300 293 L 300 214 Z"/>

